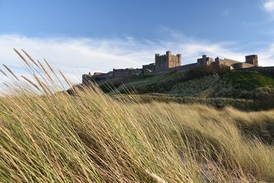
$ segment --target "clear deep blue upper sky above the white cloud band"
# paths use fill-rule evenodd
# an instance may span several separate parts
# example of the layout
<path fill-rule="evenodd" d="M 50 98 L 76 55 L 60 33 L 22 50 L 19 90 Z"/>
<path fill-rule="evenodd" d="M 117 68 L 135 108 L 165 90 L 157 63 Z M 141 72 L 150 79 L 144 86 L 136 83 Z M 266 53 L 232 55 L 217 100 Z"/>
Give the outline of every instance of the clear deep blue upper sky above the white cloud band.
<path fill-rule="evenodd" d="M 169 27 L 212 41 L 264 42 L 274 24 L 261 0 L 1 0 L 1 34 L 155 39 Z"/>

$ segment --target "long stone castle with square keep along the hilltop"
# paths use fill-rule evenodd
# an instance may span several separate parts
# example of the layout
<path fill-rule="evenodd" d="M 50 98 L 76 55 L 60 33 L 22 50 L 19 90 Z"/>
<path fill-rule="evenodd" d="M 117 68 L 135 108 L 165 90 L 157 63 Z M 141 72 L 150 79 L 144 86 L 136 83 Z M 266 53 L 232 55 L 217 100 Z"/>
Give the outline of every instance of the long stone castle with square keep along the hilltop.
<path fill-rule="evenodd" d="M 127 77 L 130 75 L 153 75 L 159 73 L 166 73 L 169 71 L 190 71 L 194 69 L 204 68 L 205 66 L 214 66 L 215 68 L 225 68 L 227 70 L 234 69 L 256 69 L 258 68 L 258 56 L 245 56 L 245 62 L 230 60 L 227 58 L 210 58 L 203 55 L 198 58 L 196 63 L 182 65 L 181 54 L 172 55 L 171 51 L 166 51 L 165 55 L 155 54 L 155 62 L 143 65 L 142 69 L 113 69 L 108 73 L 94 73 L 93 75 L 84 74 L 83 84 L 88 82 L 104 82 L 116 77 Z"/>

